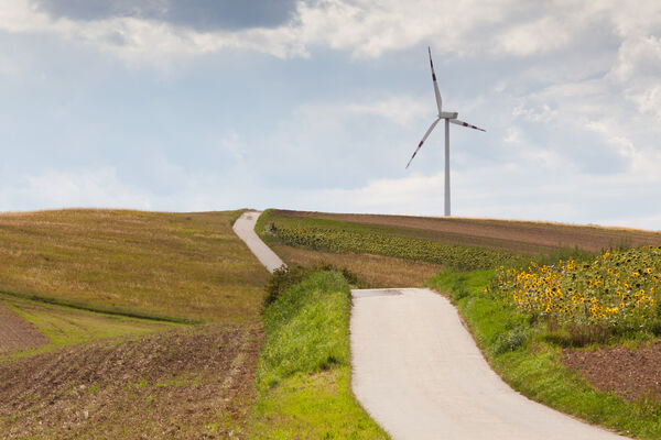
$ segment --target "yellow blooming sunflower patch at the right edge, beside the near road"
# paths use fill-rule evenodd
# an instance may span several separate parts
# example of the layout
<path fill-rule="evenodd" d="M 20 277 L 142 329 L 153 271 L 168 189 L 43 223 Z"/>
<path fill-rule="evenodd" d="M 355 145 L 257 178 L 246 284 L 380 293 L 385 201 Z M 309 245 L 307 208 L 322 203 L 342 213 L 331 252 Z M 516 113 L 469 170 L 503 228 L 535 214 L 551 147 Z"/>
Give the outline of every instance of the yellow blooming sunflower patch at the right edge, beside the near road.
<path fill-rule="evenodd" d="M 500 266 L 487 289 L 519 311 L 556 322 L 608 328 L 658 326 L 661 246 L 606 251 L 593 261 L 570 258 L 527 270 Z"/>

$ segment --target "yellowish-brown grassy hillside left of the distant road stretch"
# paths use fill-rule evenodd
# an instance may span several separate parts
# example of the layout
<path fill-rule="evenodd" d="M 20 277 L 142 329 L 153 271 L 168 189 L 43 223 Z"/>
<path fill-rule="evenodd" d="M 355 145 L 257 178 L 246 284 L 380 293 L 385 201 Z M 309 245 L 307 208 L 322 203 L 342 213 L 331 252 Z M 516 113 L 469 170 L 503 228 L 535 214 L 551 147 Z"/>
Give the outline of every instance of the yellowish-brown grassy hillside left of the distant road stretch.
<path fill-rule="evenodd" d="M 268 273 L 239 212 L 0 215 L 0 292 L 140 317 L 256 321 Z"/>

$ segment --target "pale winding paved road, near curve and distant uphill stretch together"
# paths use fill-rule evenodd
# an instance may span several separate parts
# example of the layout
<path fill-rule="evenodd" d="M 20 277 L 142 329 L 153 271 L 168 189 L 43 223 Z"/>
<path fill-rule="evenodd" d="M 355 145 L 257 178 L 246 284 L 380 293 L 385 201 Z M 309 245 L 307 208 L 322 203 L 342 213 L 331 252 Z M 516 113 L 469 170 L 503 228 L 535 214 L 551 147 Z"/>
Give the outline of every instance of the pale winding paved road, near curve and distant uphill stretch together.
<path fill-rule="evenodd" d="M 245 213 L 235 231 L 254 234 L 258 217 Z M 269 254 L 258 253 L 263 248 L 248 246 L 267 265 Z M 354 393 L 393 439 L 624 439 L 512 391 L 491 371 L 443 296 L 420 288 L 353 295 Z"/>

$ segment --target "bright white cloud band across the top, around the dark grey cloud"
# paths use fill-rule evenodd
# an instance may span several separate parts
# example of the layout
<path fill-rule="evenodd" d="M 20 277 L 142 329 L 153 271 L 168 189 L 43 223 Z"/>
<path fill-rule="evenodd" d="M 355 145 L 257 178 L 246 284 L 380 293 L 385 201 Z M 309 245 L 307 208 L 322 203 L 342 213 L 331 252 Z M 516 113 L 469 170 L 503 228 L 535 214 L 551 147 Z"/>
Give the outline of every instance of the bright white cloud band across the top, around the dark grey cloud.
<path fill-rule="evenodd" d="M 657 30 L 661 6 L 655 0 L 621 2 L 516 0 L 300 0 L 294 19 L 273 28 L 203 32 L 166 22 L 134 18 L 52 19 L 29 0 L 4 0 L 0 30 L 53 32 L 137 61 L 247 48 L 285 58 L 308 56 L 327 46 L 355 57 L 433 43 L 440 54 L 527 56 L 572 46 L 590 26 L 610 26 L 622 38 Z M 626 66 L 622 66 L 626 69 Z"/>

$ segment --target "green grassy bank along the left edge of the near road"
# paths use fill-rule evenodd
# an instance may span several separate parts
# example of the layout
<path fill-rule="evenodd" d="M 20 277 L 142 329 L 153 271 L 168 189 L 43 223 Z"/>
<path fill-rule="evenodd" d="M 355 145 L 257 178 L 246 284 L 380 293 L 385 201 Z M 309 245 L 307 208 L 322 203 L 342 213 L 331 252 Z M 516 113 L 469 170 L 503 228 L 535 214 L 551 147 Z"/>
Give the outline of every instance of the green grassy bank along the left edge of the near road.
<path fill-rule="evenodd" d="M 388 438 L 350 391 L 350 307 L 342 274 L 318 271 L 264 310 L 253 438 Z"/>

